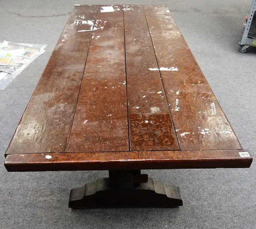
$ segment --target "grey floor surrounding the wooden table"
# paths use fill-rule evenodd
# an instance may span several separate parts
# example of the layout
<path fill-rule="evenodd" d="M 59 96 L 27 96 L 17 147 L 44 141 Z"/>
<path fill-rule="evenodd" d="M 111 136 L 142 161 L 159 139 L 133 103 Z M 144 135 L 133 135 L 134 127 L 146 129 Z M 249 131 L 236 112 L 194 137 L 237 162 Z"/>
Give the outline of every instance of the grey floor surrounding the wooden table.
<path fill-rule="evenodd" d="M 255 229 L 256 171 L 148 170 L 180 187 L 175 209 L 67 207 L 70 189 L 105 171 L 8 173 L 4 153 L 74 4 L 166 4 L 244 149 L 255 155 L 256 51 L 241 54 L 249 0 L 0 0 L 0 40 L 47 44 L 47 51 L 0 91 L 1 229 Z"/>

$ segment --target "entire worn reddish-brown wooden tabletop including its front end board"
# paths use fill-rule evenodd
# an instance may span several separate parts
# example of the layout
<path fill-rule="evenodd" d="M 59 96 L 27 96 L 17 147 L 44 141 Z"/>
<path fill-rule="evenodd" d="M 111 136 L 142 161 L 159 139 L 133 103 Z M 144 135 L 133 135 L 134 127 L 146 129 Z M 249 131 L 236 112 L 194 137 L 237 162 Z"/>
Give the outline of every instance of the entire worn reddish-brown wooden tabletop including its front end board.
<path fill-rule="evenodd" d="M 7 170 L 250 167 L 168 8 L 113 8 L 75 7 Z"/>

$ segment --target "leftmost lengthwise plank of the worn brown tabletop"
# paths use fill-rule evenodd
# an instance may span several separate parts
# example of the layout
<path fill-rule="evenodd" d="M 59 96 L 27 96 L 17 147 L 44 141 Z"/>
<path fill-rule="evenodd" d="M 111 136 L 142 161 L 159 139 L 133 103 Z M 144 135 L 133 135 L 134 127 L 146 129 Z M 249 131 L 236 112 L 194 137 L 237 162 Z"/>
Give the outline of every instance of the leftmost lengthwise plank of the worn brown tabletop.
<path fill-rule="evenodd" d="M 97 8 L 74 8 L 6 154 L 66 150 Z"/>

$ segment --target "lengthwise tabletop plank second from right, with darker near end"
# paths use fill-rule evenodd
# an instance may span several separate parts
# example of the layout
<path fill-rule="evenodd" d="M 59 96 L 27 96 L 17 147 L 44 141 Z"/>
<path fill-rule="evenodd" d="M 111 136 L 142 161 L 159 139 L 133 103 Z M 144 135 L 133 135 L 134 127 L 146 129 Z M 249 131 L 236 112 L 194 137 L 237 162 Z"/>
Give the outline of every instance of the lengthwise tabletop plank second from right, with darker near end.
<path fill-rule="evenodd" d="M 142 6 L 125 6 L 125 56 L 131 150 L 179 150 Z M 145 74 L 146 73 L 146 74 Z"/>

